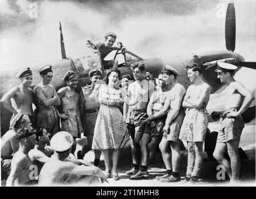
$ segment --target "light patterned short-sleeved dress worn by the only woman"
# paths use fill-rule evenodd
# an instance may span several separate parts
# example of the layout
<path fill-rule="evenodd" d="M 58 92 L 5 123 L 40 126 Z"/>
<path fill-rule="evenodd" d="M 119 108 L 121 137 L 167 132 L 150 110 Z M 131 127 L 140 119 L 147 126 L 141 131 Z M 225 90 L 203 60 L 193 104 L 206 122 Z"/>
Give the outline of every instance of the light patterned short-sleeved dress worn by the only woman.
<path fill-rule="evenodd" d="M 99 103 L 92 149 L 121 149 L 130 146 L 126 123 L 119 108 L 126 93 L 115 88 L 109 90 L 107 85 L 99 88 Z"/>

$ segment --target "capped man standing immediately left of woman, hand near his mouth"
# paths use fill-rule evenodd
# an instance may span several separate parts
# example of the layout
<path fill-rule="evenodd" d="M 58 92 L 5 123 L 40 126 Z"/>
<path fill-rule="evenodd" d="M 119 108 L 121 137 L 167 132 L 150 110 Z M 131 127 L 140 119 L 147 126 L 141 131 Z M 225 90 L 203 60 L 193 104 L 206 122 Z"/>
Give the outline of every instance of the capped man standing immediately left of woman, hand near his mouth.
<path fill-rule="evenodd" d="M 95 98 L 90 98 L 94 87 L 97 86 L 96 81 L 102 79 L 102 72 L 98 69 L 92 69 L 89 72 L 90 80 L 92 84 L 89 86 L 82 87 L 81 91 L 81 116 L 82 123 L 84 127 L 84 136 L 87 137 L 87 145 L 82 147 L 82 150 L 77 152 L 77 159 L 84 159 L 84 155 L 87 154 L 92 149 L 92 139 L 94 135 L 94 127 L 99 112 L 99 100 Z M 94 150 L 94 165 L 99 165 L 101 150 Z"/>

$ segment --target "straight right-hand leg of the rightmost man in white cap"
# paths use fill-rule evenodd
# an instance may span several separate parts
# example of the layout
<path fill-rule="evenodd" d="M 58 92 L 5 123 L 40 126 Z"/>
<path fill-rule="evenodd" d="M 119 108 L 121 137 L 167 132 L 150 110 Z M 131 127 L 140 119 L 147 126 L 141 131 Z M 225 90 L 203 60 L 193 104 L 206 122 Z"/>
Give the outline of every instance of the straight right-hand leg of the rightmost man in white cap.
<path fill-rule="evenodd" d="M 231 178 L 232 182 L 239 181 L 240 175 L 240 157 L 239 157 L 239 141 L 231 140 L 227 142 L 227 152 L 230 157 L 230 167 L 231 167 Z"/>

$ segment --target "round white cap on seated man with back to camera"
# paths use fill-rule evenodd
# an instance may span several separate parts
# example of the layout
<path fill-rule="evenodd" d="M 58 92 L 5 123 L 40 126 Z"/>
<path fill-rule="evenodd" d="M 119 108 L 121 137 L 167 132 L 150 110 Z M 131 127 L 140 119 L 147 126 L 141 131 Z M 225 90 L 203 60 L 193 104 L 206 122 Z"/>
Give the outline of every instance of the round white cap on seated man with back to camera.
<path fill-rule="evenodd" d="M 57 132 L 50 141 L 52 149 L 63 152 L 67 149 L 70 149 L 73 145 L 74 139 L 73 136 L 67 131 Z"/>

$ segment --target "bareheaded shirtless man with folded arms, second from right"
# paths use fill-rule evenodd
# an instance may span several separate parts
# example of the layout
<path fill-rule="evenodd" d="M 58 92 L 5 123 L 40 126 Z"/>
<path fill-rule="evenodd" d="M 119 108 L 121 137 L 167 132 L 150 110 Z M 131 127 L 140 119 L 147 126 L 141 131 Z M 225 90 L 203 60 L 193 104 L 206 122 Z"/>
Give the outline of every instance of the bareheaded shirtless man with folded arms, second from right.
<path fill-rule="evenodd" d="M 183 182 L 198 182 L 202 167 L 202 153 L 205 134 L 208 127 L 206 106 L 210 99 L 210 86 L 200 74 L 202 69 L 196 63 L 187 65 L 187 76 L 194 85 L 187 88 L 182 106 L 187 108 L 180 130 L 180 139 L 187 141 L 187 172 Z"/>

